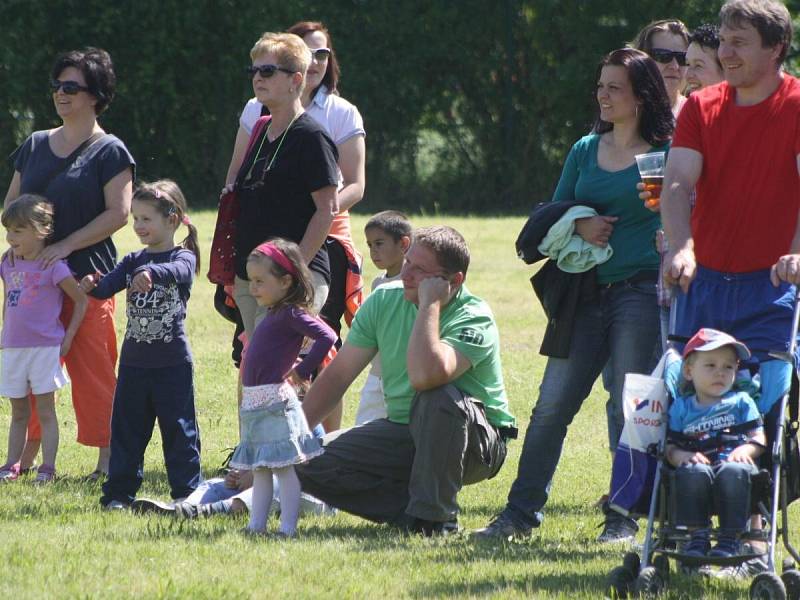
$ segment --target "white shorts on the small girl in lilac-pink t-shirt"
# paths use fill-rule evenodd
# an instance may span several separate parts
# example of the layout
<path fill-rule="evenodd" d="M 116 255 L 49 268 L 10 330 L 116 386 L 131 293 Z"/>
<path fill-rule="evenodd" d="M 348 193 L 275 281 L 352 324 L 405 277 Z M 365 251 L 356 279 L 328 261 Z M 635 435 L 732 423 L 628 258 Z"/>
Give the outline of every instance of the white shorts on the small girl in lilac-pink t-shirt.
<path fill-rule="evenodd" d="M 48 394 L 69 383 L 61 366 L 61 347 L 3 348 L 0 396 L 24 398 L 28 391 Z"/>

